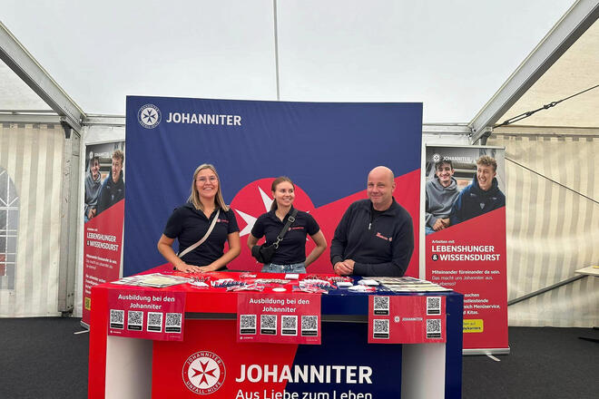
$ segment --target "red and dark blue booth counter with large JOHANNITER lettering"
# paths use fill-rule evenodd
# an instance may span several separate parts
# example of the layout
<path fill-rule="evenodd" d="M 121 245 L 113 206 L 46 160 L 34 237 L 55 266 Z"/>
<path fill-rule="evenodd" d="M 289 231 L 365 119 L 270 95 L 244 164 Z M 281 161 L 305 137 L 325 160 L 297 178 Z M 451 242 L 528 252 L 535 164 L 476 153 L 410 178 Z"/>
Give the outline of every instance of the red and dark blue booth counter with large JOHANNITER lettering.
<path fill-rule="evenodd" d="M 152 269 L 157 270 L 160 269 Z M 239 276 L 232 272 L 212 275 Z M 259 273 L 258 277 L 282 278 L 284 275 Z M 109 335 L 112 331 L 110 298 L 119 293 L 134 296 L 150 291 L 157 295 L 183 295 L 182 340 L 171 340 L 172 336 L 167 340 L 152 340 Z M 290 289 L 288 294 L 296 295 Z M 148 288 L 107 283 L 93 287 L 88 396 L 127 399 L 461 397 L 461 294 L 354 293 L 331 289 L 329 294 L 319 297 L 319 345 L 285 344 L 277 340 L 274 343 L 239 342 L 240 295 L 226 288 L 199 288 L 189 284 Z M 272 289 L 266 288 L 260 295 L 268 297 Z M 446 342 L 368 344 L 370 295 L 445 297 Z"/>

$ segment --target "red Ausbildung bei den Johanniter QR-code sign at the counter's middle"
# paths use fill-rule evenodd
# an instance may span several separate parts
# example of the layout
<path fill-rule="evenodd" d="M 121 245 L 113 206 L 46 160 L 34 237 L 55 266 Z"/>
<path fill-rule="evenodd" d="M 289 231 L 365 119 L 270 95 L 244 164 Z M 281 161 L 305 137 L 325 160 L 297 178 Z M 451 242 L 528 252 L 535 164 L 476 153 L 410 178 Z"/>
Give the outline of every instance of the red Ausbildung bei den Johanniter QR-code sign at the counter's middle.
<path fill-rule="evenodd" d="M 237 342 L 320 345 L 320 295 L 239 293 Z"/>

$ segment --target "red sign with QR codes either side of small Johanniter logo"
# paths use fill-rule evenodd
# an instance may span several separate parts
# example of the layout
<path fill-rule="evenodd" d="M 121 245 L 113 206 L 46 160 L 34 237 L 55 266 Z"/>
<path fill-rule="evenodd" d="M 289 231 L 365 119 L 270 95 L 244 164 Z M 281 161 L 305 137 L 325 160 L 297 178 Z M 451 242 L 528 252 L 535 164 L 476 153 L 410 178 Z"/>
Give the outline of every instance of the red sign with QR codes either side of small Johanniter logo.
<path fill-rule="evenodd" d="M 368 344 L 446 342 L 446 298 L 368 297 Z"/>

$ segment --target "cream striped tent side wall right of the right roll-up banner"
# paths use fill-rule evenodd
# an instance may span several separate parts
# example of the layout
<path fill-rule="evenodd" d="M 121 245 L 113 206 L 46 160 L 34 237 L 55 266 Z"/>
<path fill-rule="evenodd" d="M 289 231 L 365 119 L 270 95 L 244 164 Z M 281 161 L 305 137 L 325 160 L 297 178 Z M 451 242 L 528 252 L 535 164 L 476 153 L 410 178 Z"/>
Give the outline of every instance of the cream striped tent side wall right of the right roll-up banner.
<path fill-rule="evenodd" d="M 508 300 L 599 259 L 599 135 L 503 129 L 506 147 Z M 553 181 L 552 181 L 553 180 Z M 599 280 L 584 277 L 508 307 L 510 326 L 598 326 Z"/>

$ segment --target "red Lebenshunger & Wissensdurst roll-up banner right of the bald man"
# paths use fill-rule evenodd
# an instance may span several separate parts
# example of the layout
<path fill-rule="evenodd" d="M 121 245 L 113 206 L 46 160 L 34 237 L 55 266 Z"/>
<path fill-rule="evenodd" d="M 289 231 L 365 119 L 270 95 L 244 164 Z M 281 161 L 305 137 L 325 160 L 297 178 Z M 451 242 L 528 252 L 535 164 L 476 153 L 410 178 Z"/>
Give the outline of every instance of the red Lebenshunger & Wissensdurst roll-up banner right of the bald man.
<path fill-rule="evenodd" d="M 465 353 L 506 353 L 504 149 L 427 146 L 426 278 L 464 294 Z"/>

